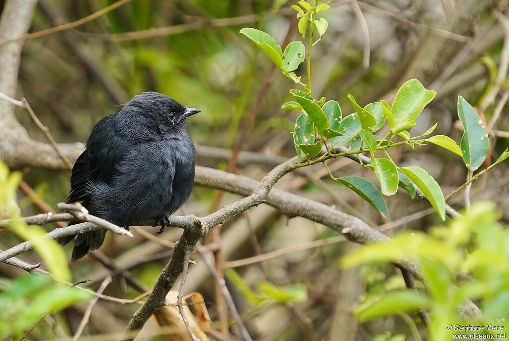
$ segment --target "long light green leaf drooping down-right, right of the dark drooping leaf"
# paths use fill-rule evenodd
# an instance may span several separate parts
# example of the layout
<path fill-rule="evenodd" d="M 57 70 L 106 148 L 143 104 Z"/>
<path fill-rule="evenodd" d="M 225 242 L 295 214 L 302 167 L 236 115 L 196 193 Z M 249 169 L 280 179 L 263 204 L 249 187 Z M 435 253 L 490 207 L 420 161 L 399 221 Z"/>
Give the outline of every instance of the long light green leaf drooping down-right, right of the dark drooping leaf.
<path fill-rule="evenodd" d="M 430 204 L 445 220 L 445 200 L 440 185 L 420 167 L 401 167 L 400 171 L 405 174 L 424 193 Z"/>

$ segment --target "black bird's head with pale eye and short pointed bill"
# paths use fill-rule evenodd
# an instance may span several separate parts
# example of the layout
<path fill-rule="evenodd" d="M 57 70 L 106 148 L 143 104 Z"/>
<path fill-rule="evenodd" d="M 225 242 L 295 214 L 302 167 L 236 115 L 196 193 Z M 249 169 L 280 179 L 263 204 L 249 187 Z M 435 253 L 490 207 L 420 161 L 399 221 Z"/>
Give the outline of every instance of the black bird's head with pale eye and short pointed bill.
<path fill-rule="evenodd" d="M 185 120 L 198 112 L 199 109 L 184 106 L 169 96 L 150 91 L 129 100 L 119 112 L 119 119 L 129 120 L 138 129 L 143 127 L 150 133 L 167 134 L 183 130 Z"/>

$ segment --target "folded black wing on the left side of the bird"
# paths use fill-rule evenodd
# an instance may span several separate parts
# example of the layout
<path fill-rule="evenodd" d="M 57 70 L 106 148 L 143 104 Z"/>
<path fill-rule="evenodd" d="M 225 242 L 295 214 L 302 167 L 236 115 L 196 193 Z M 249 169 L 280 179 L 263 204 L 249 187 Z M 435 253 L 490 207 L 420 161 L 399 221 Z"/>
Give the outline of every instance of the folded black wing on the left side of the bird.
<path fill-rule="evenodd" d="M 125 139 L 116 133 L 114 126 L 116 116 L 117 114 L 106 116 L 92 129 L 86 149 L 72 168 L 68 203 L 87 200 L 91 183 L 108 184 L 114 178 L 116 168 L 128 148 Z"/>

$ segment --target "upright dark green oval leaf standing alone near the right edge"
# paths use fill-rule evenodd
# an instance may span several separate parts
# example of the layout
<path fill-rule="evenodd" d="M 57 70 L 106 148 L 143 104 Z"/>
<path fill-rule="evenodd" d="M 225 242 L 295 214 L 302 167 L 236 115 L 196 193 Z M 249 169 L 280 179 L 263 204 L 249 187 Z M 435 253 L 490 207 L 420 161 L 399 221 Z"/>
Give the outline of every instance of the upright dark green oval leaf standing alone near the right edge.
<path fill-rule="evenodd" d="M 461 96 L 458 96 L 458 116 L 463 126 L 461 151 L 463 161 L 470 171 L 483 164 L 490 149 L 488 132 L 475 109 Z"/>

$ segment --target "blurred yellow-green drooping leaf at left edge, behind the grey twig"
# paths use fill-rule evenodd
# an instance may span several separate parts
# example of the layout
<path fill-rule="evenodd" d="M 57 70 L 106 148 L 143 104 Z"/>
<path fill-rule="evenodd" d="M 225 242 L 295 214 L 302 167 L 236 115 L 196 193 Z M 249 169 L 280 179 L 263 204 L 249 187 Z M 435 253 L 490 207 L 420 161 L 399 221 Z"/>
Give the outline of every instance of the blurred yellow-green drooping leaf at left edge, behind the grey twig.
<path fill-rule="evenodd" d="M 0 160 L 0 208 L 3 215 L 9 218 L 19 217 L 16 205 L 16 189 L 21 181 L 18 172 L 9 173 L 9 168 Z M 30 240 L 34 249 L 39 253 L 51 274 L 60 280 L 70 280 L 71 273 L 67 265 L 67 257 L 63 248 L 45 236 L 45 231 L 39 226 L 27 226 L 22 220 L 12 220 L 8 229 L 24 240 Z"/>

